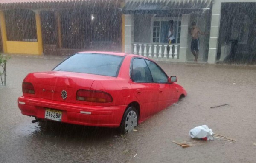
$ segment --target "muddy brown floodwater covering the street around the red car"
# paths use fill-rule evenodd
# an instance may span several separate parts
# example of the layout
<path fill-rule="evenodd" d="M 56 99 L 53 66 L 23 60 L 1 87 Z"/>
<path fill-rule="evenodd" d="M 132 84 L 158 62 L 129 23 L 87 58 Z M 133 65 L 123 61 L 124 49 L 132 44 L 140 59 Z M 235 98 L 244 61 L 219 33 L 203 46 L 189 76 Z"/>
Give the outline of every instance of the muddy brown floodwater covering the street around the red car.
<path fill-rule="evenodd" d="M 188 96 L 121 136 L 109 128 L 32 124 L 34 118 L 20 113 L 26 74 L 52 70 L 62 60 L 13 55 L 7 62 L 6 86 L 0 86 L 1 163 L 255 163 L 256 66 L 159 62 Z M 172 142 L 193 141 L 189 130 L 204 124 L 237 141 L 188 148 Z"/>

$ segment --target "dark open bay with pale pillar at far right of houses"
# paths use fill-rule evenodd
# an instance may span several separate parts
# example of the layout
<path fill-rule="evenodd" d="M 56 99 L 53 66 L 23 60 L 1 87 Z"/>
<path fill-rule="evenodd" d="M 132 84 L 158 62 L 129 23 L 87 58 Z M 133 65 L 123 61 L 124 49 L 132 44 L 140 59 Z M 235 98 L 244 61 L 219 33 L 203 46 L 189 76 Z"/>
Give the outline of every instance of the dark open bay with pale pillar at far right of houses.
<path fill-rule="evenodd" d="M 256 64 L 256 0 L 215 0 L 213 7 L 218 41 L 212 40 L 212 61 Z"/>

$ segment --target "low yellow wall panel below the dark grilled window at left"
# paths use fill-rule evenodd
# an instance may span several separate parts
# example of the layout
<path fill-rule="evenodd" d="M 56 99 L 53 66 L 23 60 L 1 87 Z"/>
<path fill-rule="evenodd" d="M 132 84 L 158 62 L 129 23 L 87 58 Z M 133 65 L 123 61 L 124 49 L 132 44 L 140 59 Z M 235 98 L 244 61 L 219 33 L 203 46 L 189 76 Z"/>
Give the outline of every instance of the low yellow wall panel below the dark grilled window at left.
<path fill-rule="evenodd" d="M 36 54 L 38 51 L 38 42 L 7 41 L 7 53 Z"/>

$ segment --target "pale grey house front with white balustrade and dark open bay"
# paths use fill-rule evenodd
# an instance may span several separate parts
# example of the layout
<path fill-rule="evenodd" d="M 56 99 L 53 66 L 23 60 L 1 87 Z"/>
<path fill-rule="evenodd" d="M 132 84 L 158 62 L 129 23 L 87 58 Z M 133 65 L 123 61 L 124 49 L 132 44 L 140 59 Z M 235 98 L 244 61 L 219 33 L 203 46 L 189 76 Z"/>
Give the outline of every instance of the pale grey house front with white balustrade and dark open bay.
<path fill-rule="evenodd" d="M 124 51 L 160 61 L 193 62 L 190 30 L 195 22 L 208 34 L 199 36 L 199 62 L 255 63 L 255 5 L 256 0 L 126 0 Z M 172 44 L 167 40 L 170 20 Z"/>

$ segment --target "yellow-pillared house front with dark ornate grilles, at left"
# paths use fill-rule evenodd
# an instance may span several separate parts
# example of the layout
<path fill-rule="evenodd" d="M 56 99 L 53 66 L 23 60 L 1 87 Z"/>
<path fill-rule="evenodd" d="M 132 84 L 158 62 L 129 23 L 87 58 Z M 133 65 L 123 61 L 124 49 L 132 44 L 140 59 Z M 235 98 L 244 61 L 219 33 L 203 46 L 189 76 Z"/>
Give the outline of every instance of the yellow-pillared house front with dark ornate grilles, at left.
<path fill-rule="evenodd" d="M 123 0 L 1 0 L 3 53 L 121 51 Z"/>

